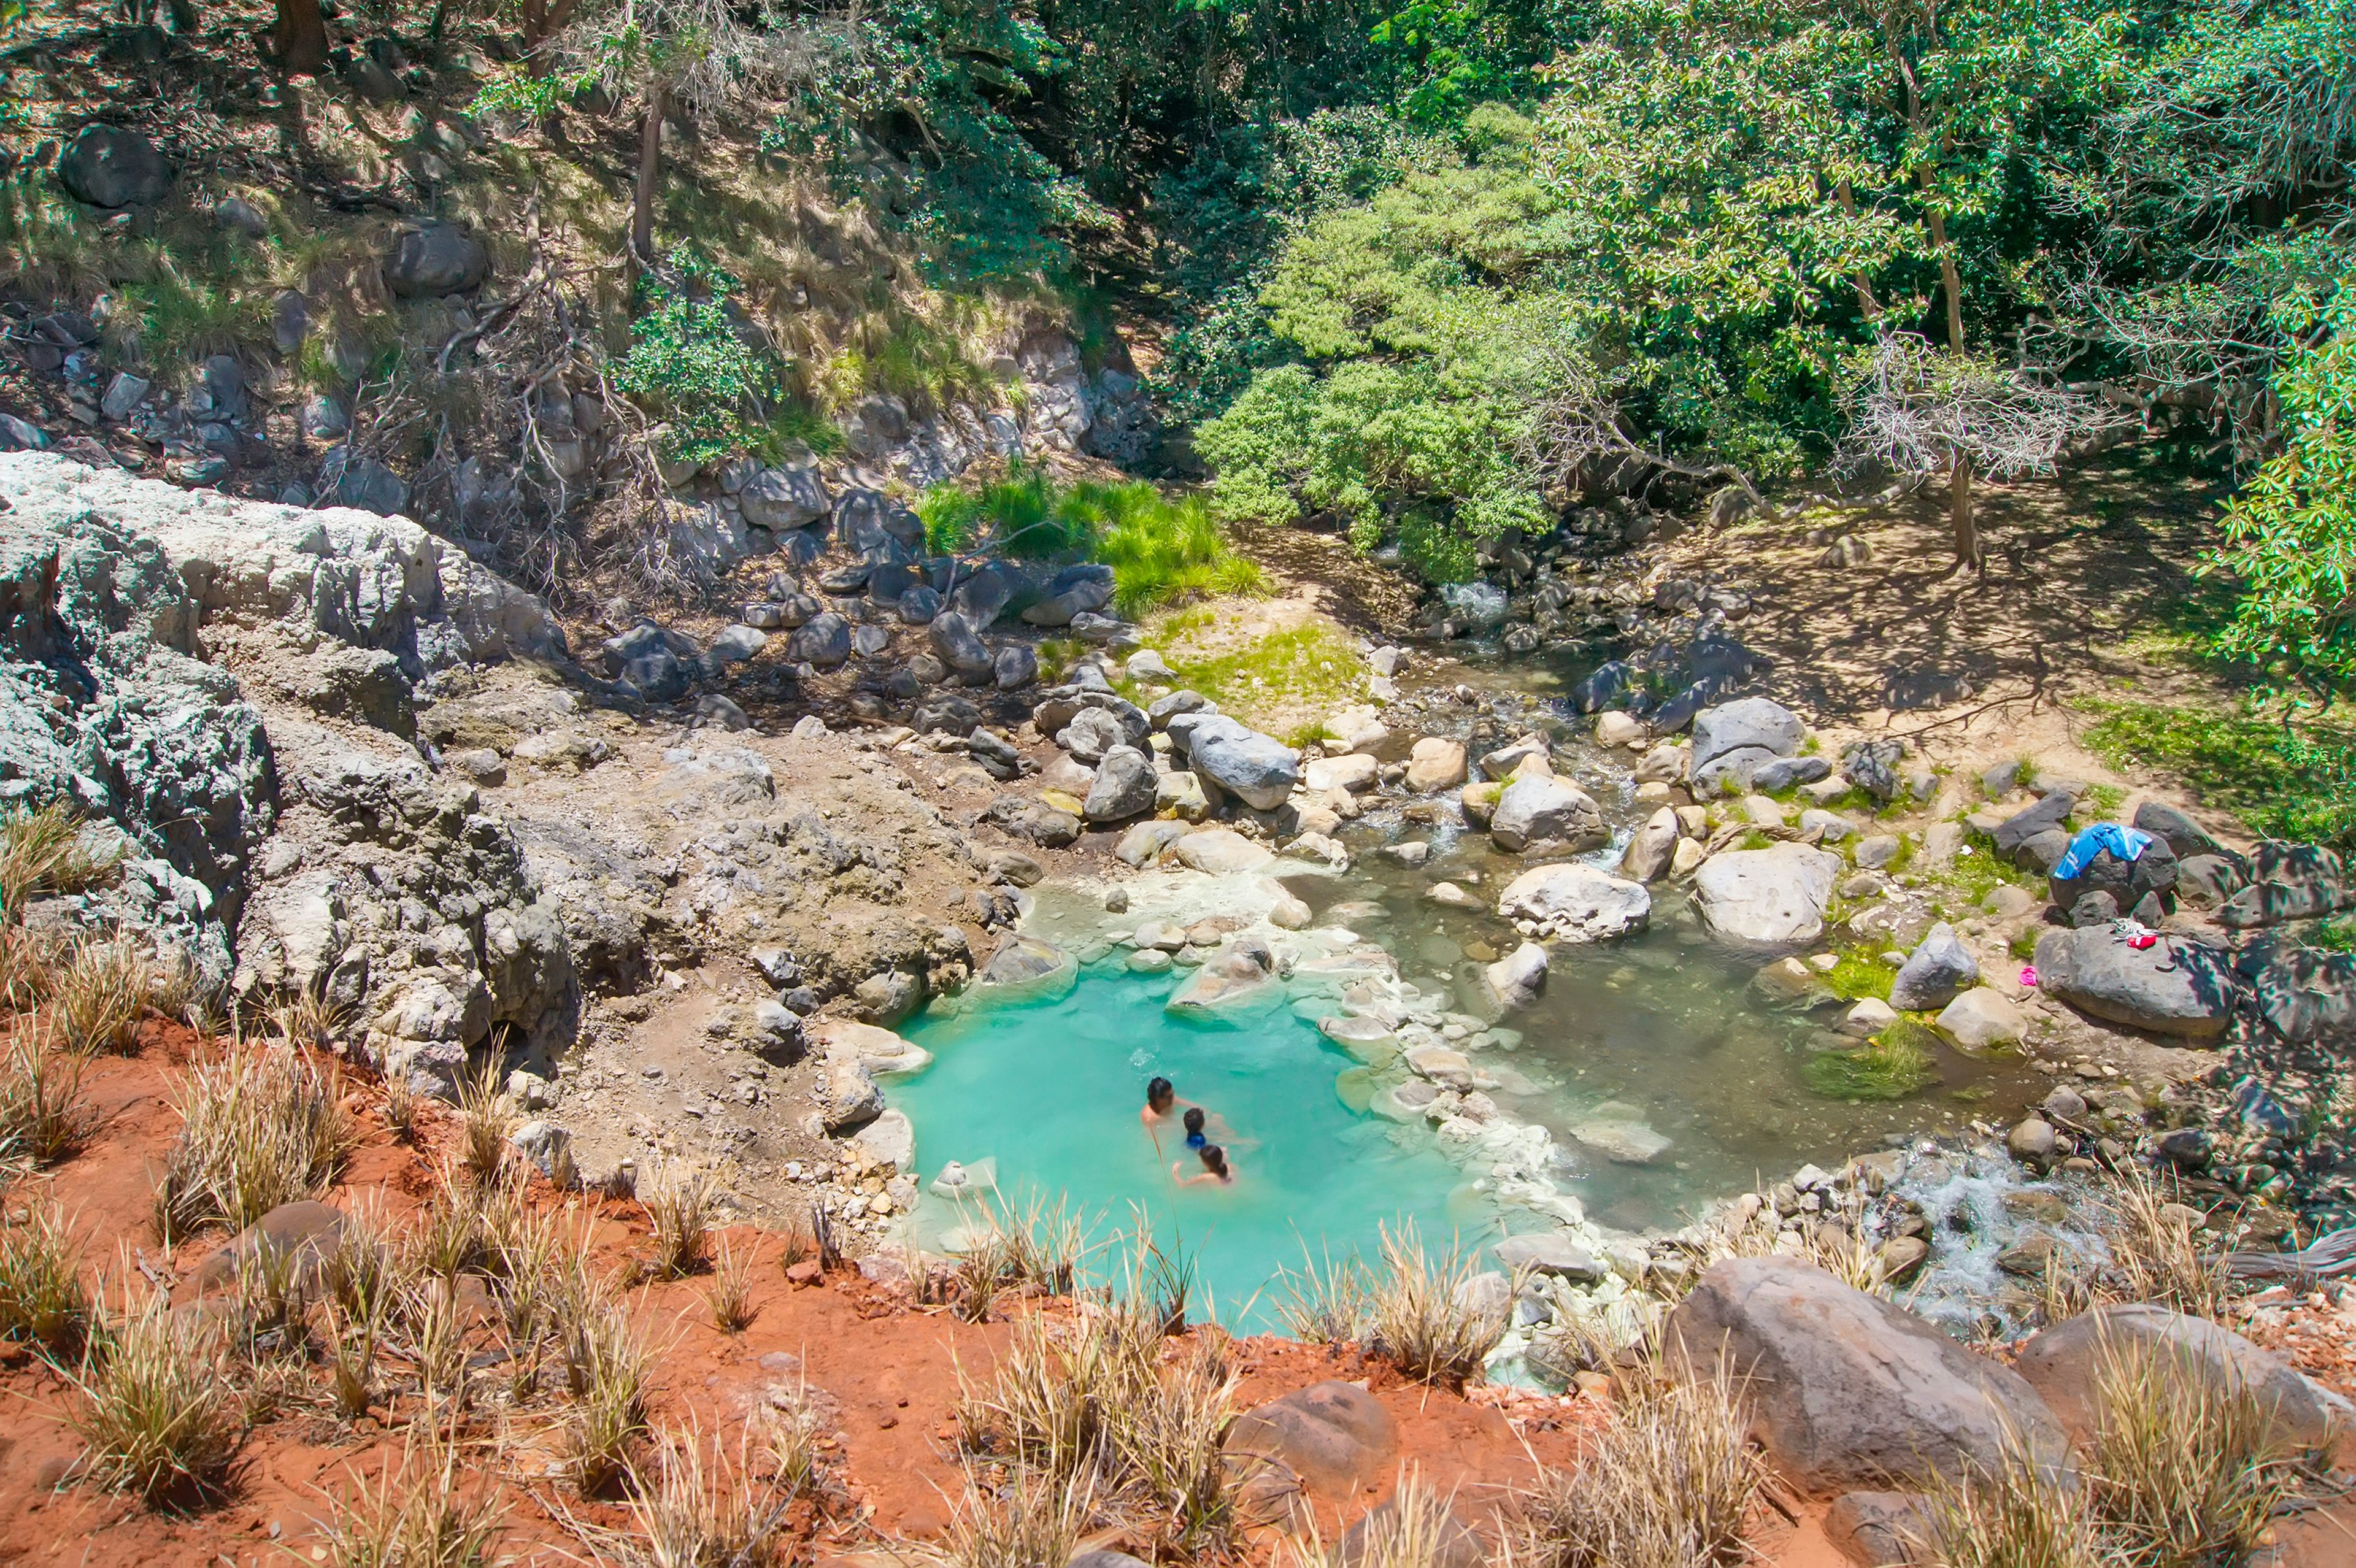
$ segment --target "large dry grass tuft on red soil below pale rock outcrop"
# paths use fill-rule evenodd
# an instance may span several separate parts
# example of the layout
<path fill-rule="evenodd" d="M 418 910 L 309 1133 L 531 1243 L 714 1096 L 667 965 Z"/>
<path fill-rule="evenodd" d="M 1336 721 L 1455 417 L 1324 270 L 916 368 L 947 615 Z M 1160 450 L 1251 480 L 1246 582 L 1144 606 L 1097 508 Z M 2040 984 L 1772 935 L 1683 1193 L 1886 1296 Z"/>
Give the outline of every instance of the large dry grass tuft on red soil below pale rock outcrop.
<path fill-rule="evenodd" d="M 283 1045 L 233 1045 L 196 1067 L 179 1111 L 155 1189 L 165 1238 L 217 1222 L 245 1227 L 280 1203 L 316 1198 L 351 1149 L 332 1085 Z"/>

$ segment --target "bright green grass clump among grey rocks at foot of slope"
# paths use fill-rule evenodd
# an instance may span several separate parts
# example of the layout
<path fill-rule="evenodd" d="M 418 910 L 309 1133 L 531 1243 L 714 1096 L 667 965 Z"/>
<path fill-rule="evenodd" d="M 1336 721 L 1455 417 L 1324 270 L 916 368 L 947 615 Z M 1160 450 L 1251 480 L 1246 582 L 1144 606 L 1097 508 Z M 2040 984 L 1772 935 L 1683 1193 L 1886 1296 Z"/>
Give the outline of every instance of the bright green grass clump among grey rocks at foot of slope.
<path fill-rule="evenodd" d="M 992 546 L 1015 560 L 1098 560 L 1112 567 L 1114 607 L 1126 617 L 1218 593 L 1258 593 L 1265 574 L 1227 544 L 1199 497 L 1166 499 L 1143 480 L 1058 485 L 1015 466 L 964 490 L 935 485 L 921 501 L 933 551 Z"/>

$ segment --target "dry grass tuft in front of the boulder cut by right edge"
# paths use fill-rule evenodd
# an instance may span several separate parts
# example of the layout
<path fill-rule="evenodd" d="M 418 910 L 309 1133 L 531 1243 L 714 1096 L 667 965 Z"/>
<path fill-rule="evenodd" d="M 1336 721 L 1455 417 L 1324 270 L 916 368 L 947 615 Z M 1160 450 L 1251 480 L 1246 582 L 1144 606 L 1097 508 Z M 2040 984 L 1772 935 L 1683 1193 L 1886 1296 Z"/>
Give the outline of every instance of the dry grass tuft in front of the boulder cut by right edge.
<path fill-rule="evenodd" d="M 2094 1408 L 2087 1497 L 2123 1561 L 2250 1561 L 2292 1486 L 2255 1389 L 2168 1344 L 2111 1342 Z"/>

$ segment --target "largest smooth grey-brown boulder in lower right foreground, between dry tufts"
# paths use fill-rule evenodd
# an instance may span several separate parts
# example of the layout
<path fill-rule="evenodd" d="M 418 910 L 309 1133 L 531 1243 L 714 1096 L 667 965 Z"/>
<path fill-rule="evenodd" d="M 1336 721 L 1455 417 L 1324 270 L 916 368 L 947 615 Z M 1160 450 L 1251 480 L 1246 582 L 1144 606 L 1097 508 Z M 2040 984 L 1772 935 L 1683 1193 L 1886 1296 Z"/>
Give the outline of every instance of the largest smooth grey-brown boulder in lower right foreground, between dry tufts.
<path fill-rule="evenodd" d="M 2069 1439 L 2019 1373 L 1922 1318 L 1788 1257 L 1701 1276 L 1663 1330 L 1670 1366 L 1743 1380 L 1751 1434 L 1805 1493 L 1960 1481 L 2026 1448 L 2059 1471 Z"/>

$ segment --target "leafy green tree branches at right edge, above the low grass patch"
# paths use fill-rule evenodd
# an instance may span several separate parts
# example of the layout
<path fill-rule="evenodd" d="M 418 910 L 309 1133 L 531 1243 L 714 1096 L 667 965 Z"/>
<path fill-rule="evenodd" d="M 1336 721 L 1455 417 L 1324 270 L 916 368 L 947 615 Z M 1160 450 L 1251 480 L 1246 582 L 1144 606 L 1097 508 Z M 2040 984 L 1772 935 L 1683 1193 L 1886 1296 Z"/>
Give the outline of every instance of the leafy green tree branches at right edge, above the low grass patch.
<path fill-rule="evenodd" d="M 2224 513 L 2205 572 L 2241 582 L 2217 645 L 2330 699 L 2356 692 L 2356 275 L 2276 377 L 2283 450 Z"/>

